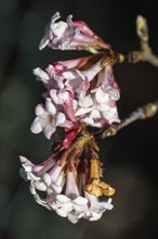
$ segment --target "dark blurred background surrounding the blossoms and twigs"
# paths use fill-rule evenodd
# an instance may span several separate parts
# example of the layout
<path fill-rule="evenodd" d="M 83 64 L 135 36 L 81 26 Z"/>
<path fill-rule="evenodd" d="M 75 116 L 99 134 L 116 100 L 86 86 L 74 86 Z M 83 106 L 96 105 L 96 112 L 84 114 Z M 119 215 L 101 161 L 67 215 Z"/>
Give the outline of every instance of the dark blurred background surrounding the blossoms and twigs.
<path fill-rule="evenodd" d="M 2 239 L 149 239 L 157 238 L 158 115 L 122 129 L 115 138 L 100 142 L 105 180 L 117 193 L 115 207 L 98 222 L 81 219 L 71 225 L 38 205 L 28 184 L 18 175 L 18 155 L 41 162 L 50 154 L 42 135 L 29 131 L 34 109 L 43 87 L 32 68 L 85 55 L 85 52 L 38 50 L 45 24 L 60 11 L 83 20 L 106 42 L 120 52 L 139 49 L 135 17 L 148 21 L 150 46 L 158 53 L 157 1 L 114 0 L 1 0 L 1 165 L 0 230 Z M 120 116 L 158 98 L 158 70 L 147 63 L 117 65 L 121 88 Z"/>

